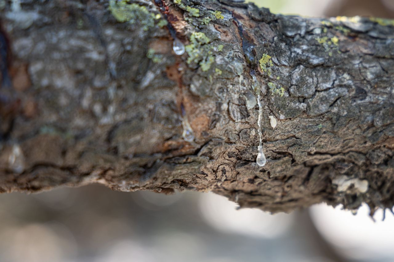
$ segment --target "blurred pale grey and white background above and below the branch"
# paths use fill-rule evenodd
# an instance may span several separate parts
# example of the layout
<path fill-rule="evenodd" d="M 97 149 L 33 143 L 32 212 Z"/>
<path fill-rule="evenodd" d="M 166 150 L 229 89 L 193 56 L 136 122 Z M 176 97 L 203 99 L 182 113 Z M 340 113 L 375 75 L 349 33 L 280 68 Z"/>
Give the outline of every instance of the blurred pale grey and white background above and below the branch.
<path fill-rule="evenodd" d="M 394 17 L 393 0 L 256 0 L 275 13 Z M 115 192 L 99 185 L 0 195 L 1 262 L 392 262 L 394 216 L 376 223 L 316 205 L 236 210 L 212 193 Z"/>

